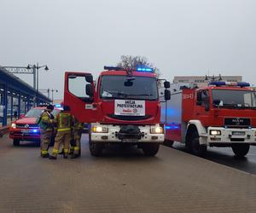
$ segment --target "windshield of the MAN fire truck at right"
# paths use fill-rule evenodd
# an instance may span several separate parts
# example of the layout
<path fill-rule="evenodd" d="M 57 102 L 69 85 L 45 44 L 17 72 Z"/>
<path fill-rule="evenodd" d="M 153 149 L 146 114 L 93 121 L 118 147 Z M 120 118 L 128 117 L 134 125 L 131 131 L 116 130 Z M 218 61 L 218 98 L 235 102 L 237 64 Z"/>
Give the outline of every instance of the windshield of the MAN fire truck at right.
<path fill-rule="evenodd" d="M 213 107 L 256 108 L 256 92 L 251 90 L 212 89 Z"/>

